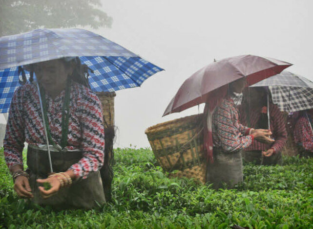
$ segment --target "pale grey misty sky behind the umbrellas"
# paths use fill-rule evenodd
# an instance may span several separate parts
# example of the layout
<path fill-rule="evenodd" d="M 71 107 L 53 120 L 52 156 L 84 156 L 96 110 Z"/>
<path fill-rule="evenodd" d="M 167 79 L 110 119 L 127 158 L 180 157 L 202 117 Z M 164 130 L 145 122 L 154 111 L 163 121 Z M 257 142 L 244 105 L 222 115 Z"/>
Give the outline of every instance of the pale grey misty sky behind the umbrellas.
<path fill-rule="evenodd" d="M 117 92 L 115 147 L 149 146 L 145 129 L 197 114 L 202 107 L 161 117 L 196 70 L 242 54 L 287 61 L 313 80 L 313 0 L 102 0 L 112 28 L 93 30 L 165 71 L 141 88 Z"/>

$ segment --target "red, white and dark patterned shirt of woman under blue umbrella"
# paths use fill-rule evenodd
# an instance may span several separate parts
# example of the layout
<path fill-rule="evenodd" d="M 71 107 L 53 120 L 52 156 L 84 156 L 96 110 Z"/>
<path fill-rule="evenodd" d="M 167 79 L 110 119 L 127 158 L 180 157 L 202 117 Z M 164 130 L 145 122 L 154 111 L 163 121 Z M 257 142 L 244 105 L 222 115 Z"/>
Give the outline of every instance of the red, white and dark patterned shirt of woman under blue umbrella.
<path fill-rule="evenodd" d="M 54 142 L 60 144 L 62 137 L 62 107 L 65 90 L 54 100 L 46 93 L 47 116 Z M 69 169 L 78 178 L 86 178 L 91 171 L 97 171 L 104 162 L 104 126 L 102 106 L 97 95 L 83 85 L 72 82 L 69 105 L 68 146 L 66 149 L 80 149 L 83 158 Z M 6 133 L 3 140 L 4 157 L 7 166 L 21 164 L 24 142 L 34 145 L 46 144 L 39 94 L 35 84 L 18 88 L 13 95 Z"/>

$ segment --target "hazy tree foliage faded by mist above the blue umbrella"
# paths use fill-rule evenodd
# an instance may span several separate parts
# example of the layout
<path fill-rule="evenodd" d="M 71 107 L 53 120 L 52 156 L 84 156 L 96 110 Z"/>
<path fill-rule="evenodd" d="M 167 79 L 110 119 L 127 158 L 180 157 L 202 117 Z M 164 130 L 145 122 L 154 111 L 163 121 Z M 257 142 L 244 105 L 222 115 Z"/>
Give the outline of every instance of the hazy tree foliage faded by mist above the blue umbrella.
<path fill-rule="evenodd" d="M 111 26 L 100 0 L 0 0 L 0 37 L 37 28 Z"/>

